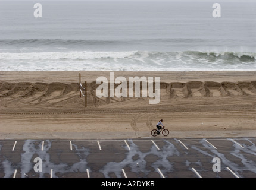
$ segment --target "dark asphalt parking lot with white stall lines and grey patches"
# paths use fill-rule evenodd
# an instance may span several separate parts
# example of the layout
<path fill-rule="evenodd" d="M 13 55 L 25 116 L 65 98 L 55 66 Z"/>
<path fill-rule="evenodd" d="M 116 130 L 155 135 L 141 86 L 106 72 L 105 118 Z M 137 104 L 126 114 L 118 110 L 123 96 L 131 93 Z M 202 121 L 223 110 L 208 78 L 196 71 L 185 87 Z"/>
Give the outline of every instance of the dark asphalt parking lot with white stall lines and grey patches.
<path fill-rule="evenodd" d="M 256 178 L 256 138 L 2 140 L 0 178 Z"/>

